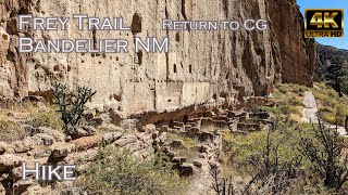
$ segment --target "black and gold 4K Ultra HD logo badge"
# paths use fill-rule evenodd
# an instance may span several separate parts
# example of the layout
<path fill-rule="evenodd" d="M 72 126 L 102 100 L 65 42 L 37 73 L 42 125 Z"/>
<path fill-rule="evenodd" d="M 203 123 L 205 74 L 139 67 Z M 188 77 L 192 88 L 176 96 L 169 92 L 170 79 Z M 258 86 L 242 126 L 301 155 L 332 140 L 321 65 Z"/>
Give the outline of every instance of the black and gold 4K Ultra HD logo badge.
<path fill-rule="evenodd" d="M 344 37 L 343 9 L 306 9 L 304 37 Z"/>

